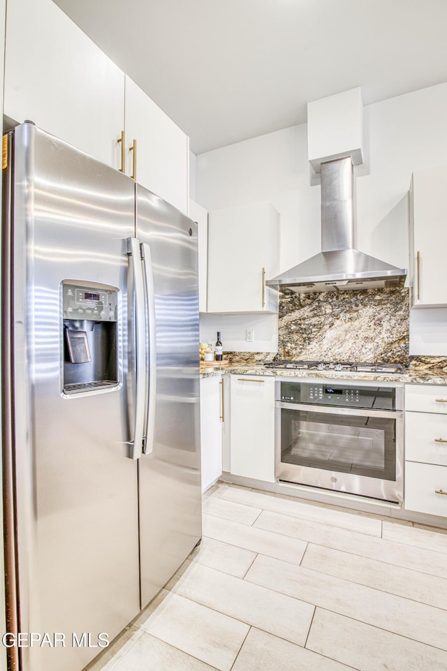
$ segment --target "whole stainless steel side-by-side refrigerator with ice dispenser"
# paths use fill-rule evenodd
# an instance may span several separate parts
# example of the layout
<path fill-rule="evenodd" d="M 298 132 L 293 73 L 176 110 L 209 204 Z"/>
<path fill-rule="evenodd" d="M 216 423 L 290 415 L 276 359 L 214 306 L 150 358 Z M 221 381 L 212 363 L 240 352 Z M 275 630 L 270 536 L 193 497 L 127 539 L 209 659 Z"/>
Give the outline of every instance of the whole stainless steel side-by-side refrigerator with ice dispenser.
<path fill-rule="evenodd" d="M 6 137 L 8 631 L 51 643 L 9 663 L 80 671 L 200 540 L 197 227 L 34 124 Z"/>

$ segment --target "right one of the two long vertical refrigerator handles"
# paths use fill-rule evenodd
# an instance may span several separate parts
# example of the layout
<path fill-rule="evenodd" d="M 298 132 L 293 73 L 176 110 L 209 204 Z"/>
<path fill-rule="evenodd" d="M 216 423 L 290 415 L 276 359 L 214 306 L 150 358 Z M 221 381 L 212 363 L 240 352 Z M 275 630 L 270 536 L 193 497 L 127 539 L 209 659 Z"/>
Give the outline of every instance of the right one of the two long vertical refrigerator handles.
<path fill-rule="evenodd" d="M 151 248 L 147 242 L 140 245 L 142 264 L 146 286 L 147 306 L 147 401 L 145 411 L 146 439 L 143 441 L 143 453 L 150 455 L 154 448 L 155 405 L 156 405 L 156 325 L 155 325 L 155 290 L 154 271 L 152 269 Z"/>

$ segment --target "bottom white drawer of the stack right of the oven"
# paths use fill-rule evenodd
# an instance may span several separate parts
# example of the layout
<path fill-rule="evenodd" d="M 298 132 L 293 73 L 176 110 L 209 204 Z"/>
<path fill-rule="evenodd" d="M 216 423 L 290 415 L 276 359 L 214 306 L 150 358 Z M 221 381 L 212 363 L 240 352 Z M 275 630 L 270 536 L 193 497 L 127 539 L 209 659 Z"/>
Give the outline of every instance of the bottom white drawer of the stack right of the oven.
<path fill-rule="evenodd" d="M 405 510 L 447 517 L 447 466 L 405 462 Z"/>

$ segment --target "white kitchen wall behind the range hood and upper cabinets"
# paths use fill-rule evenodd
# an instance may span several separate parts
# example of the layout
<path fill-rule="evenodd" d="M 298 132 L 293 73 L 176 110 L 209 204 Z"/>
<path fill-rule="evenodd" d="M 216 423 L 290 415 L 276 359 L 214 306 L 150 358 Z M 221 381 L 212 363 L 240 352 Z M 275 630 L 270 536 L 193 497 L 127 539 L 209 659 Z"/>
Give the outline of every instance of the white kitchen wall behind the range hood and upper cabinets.
<path fill-rule="evenodd" d="M 354 168 L 356 246 L 408 267 L 411 172 L 447 163 L 447 83 L 367 105 L 364 115 L 365 163 Z M 281 215 L 281 271 L 317 253 L 320 187 L 307 160 L 307 124 L 197 156 L 196 200 L 208 210 L 270 200 Z M 417 312 L 411 311 L 410 353 L 447 355 L 447 309 Z M 272 316 L 256 318 L 271 331 Z M 247 316 L 247 327 L 251 319 Z M 221 316 L 207 316 L 207 325 L 213 320 L 221 323 Z M 244 323 L 233 317 L 240 329 L 232 338 L 235 349 L 247 349 Z M 431 338 L 434 323 L 438 336 Z M 276 351 L 274 340 L 265 351 Z"/>

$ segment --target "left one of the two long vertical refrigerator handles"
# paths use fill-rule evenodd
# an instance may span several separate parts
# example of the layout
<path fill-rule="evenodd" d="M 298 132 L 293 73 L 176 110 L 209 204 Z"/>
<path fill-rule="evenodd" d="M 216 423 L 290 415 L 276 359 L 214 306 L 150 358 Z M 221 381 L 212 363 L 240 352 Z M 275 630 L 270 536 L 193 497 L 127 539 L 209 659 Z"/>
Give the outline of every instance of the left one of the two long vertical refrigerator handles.
<path fill-rule="evenodd" d="M 139 459 L 142 455 L 143 425 L 145 418 L 145 387 L 146 387 L 146 320 L 145 320 L 145 287 L 142 276 L 140 242 L 135 237 L 127 240 L 127 254 L 132 266 L 133 291 L 135 296 L 135 422 L 133 440 L 129 443 L 129 458 Z"/>

